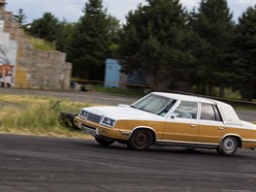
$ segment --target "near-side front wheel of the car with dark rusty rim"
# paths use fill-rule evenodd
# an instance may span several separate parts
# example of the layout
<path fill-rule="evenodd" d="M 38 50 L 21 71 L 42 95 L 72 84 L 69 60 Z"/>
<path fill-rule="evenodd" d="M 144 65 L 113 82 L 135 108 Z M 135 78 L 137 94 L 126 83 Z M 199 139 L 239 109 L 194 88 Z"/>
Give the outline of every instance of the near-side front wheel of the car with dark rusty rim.
<path fill-rule="evenodd" d="M 136 130 L 127 143 L 133 150 L 146 150 L 153 143 L 153 136 L 149 130 Z"/>

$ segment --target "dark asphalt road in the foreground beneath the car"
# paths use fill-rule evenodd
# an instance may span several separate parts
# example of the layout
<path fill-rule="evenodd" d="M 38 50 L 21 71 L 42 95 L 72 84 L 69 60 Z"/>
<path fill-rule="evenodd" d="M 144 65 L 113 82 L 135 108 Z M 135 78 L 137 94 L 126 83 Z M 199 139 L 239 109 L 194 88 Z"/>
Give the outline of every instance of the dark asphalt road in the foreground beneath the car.
<path fill-rule="evenodd" d="M 94 140 L 0 135 L 1 192 L 255 192 L 256 152 L 235 156 Z"/>

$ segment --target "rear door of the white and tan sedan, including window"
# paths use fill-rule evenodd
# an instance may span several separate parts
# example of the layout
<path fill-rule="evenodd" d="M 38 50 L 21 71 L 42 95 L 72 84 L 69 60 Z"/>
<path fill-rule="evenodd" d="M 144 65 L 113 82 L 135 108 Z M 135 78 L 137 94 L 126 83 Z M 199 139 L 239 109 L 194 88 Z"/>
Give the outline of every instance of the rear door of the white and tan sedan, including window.
<path fill-rule="evenodd" d="M 201 104 L 200 128 L 198 143 L 219 144 L 226 134 L 224 124 L 218 107 L 211 104 Z"/>

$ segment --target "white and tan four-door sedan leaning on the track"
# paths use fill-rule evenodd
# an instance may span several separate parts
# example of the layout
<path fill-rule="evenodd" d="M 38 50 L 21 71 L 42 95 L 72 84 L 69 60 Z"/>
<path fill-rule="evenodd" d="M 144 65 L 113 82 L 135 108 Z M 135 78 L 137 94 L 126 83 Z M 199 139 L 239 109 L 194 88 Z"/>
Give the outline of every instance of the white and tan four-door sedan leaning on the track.
<path fill-rule="evenodd" d="M 256 148 L 256 125 L 240 120 L 230 105 L 181 94 L 152 92 L 131 106 L 84 108 L 75 124 L 99 144 L 135 150 L 175 145 L 233 155 L 239 147 Z"/>

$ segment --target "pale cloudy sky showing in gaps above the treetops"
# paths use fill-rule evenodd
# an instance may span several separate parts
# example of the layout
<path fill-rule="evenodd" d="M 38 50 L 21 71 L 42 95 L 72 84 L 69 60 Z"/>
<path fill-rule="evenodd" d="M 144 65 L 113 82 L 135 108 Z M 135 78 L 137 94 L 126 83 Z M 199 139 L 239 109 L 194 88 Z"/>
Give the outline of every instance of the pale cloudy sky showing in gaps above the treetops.
<path fill-rule="evenodd" d="M 238 20 L 249 6 L 254 6 L 256 0 L 227 0 L 228 7 L 233 13 L 233 19 Z M 86 0 L 6 0 L 8 3 L 6 10 L 17 14 L 18 9 L 22 9 L 27 16 L 26 21 L 42 17 L 49 12 L 59 18 L 69 22 L 77 22 L 82 16 L 81 9 L 84 8 Z M 194 7 L 198 8 L 201 0 L 179 0 L 184 8 L 191 11 Z M 115 16 L 120 23 L 125 23 L 125 16 L 131 10 L 136 10 L 138 5 L 145 5 L 145 0 L 103 0 L 104 8 L 108 14 Z"/>

